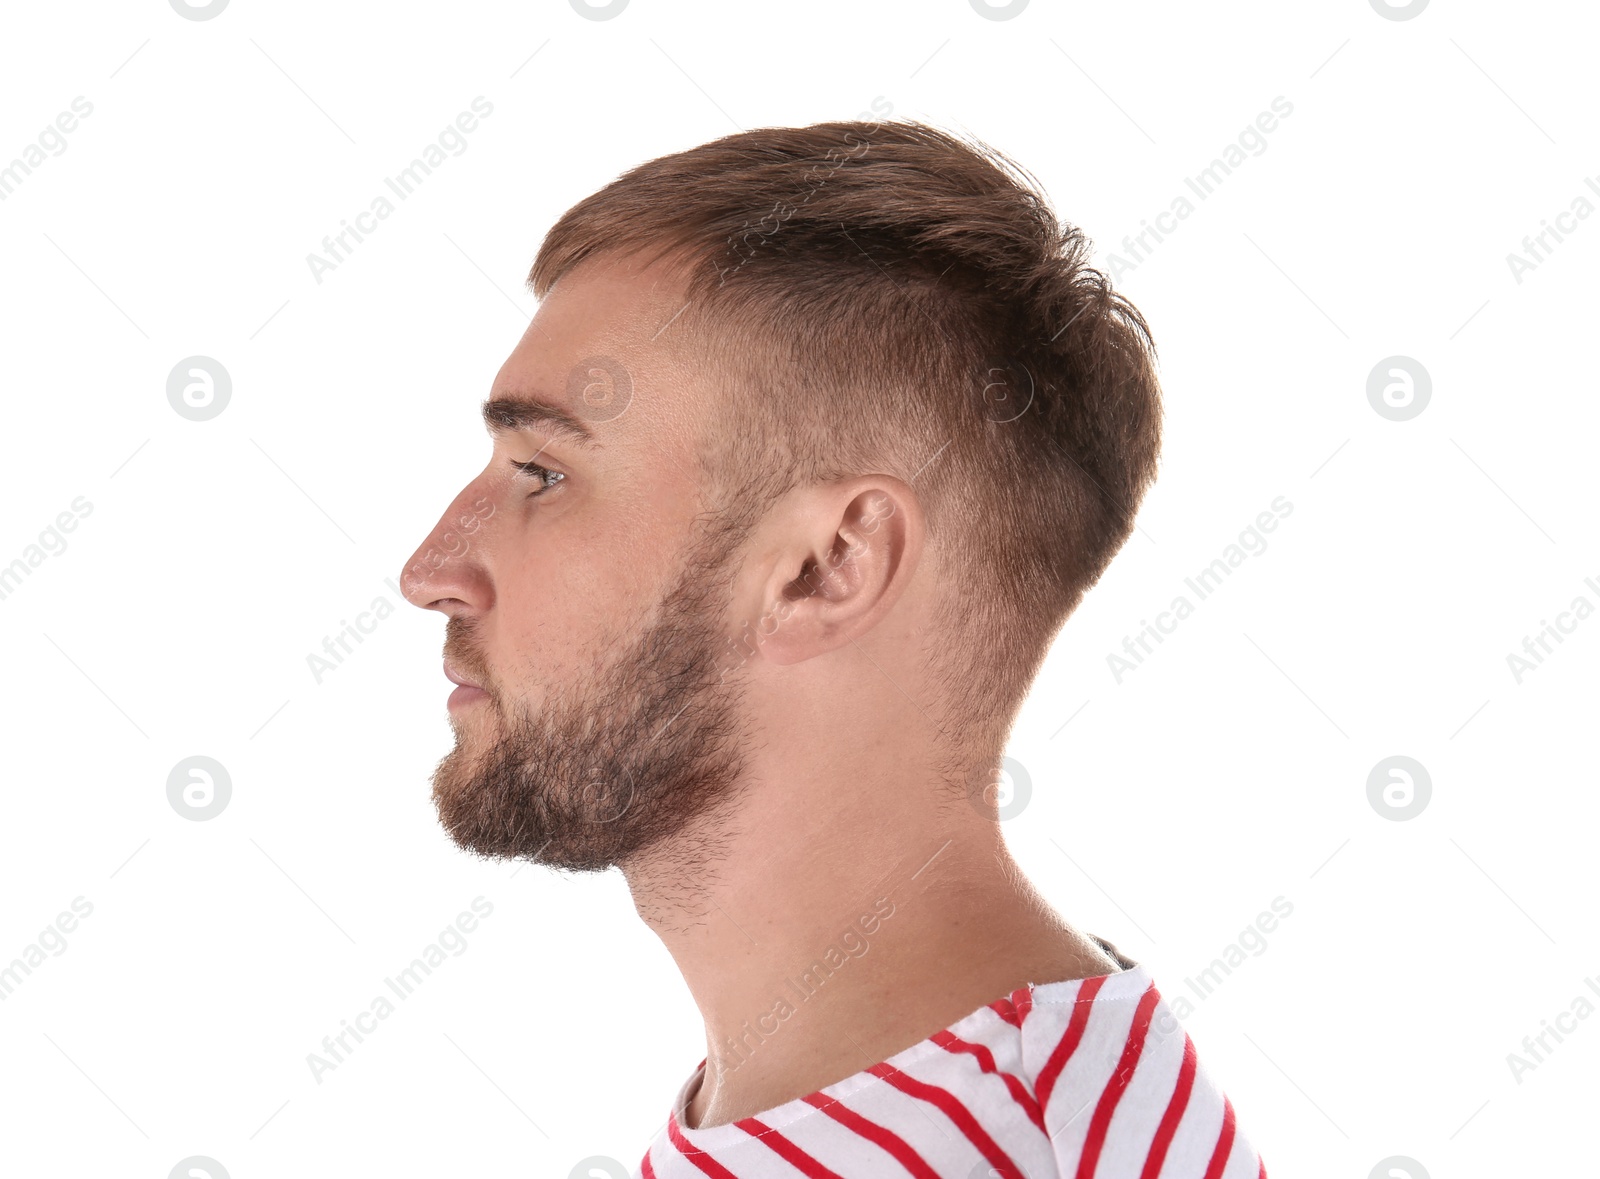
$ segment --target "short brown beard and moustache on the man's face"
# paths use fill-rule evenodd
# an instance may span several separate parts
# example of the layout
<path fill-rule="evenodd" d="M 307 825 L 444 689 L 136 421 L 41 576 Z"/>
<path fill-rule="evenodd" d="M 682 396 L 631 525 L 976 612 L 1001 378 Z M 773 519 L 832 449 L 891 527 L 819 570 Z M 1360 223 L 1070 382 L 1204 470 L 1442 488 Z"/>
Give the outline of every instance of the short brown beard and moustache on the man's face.
<path fill-rule="evenodd" d="M 702 541 L 637 638 L 606 645 L 592 677 L 538 712 L 486 673 L 474 621 L 448 621 L 446 659 L 488 693 L 478 715 L 453 720 L 456 745 L 434 771 L 434 805 L 458 846 L 603 872 L 733 805 L 744 729 L 723 617 L 738 539 Z"/>

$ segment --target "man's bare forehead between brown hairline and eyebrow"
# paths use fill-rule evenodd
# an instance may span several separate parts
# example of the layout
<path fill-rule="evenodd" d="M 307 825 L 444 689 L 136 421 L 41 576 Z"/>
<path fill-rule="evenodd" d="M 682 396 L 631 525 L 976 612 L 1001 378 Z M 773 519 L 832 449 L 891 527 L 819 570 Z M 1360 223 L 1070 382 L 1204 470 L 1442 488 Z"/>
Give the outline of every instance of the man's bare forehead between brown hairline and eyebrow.
<path fill-rule="evenodd" d="M 686 298 L 670 270 L 595 258 L 565 274 L 501 365 L 490 397 L 542 402 L 594 442 L 678 434 L 709 394 L 674 331 Z M 514 414 L 504 422 L 512 426 Z"/>

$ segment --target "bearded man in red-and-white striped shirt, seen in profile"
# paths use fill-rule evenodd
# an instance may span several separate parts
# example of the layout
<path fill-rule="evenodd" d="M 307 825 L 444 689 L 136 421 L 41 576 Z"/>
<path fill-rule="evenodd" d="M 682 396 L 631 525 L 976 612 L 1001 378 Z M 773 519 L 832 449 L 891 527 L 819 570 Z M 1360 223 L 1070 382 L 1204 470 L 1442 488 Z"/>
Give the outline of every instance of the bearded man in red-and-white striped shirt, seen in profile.
<path fill-rule="evenodd" d="M 706 1021 L 642 1176 L 1266 1173 L 997 821 L 1155 472 L 1149 333 L 1086 258 L 902 122 L 653 160 L 539 250 L 403 589 L 448 617 L 451 837 L 621 869 Z"/>

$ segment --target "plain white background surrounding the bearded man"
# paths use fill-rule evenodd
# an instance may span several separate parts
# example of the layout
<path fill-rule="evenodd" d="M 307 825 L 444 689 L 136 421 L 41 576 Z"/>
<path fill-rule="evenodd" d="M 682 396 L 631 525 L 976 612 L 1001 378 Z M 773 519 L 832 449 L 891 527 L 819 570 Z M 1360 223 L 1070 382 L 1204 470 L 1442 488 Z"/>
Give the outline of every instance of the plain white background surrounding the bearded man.
<path fill-rule="evenodd" d="M 1600 1019 L 1520 1080 L 1507 1054 L 1600 1003 L 1600 617 L 1520 683 L 1506 656 L 1600 606 L 1600 218 L 1520 283 L 1506 259 L 1600 205 L 1595 32 L 1446 0 L 8 6 L 0 162 L 93 114 L 0 202 L 0 565 L 93 510 L 0 600 L 0 963 L 93 915 L 0 1003 L 0 1173 L 632 1168 L 704 1054 L 694 1006 L 616 873 L 442 833 L 442 619 L 384 584 L 482 466 L 541 235 L 645 158 L 891 114 L 1008 152 L 1109 264 L 1277 96 L 1267 149 L 1118 283 L 1165 464 L 1016 726 L 1006 833 L 1170 1000 L 1293 904 L 1187 1019 L 1272 1174 L 1573 1173 Z M 467 149 L 315 282 L 477 96 Z M 213 421 L 168 405 L 190 355 L 232 376 Z M 1410 421 L 1366 400 L 1390 355 L 1432 378 Z M 1106 656 L 1277 496 L 1269 547 L 1118 683 Z M 197 753 L 232 779 L 206 822 L 166 798 Z M 1403 822 L 1366 797 L 1395 753 L 1432 779 Z M 467 950 L 315 1081 L 307 1053 L 478 896 Z"/>

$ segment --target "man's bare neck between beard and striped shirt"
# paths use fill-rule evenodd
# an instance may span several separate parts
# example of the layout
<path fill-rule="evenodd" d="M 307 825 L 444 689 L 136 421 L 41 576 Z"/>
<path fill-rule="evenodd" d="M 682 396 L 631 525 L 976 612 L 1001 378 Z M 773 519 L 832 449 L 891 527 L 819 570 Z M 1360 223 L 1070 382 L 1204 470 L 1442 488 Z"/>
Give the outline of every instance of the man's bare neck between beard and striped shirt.
<path fill-rule="evenodd" d="M 813 1093 L 1029 982 L 1115 971 L 998 824 L 901 752 L 768 745 L 731 813 L 624 870 L 706 1022 L 686 1125 Z M 862 784 L 862 765 L 894 769 Z"/>

